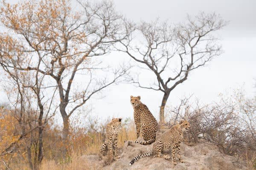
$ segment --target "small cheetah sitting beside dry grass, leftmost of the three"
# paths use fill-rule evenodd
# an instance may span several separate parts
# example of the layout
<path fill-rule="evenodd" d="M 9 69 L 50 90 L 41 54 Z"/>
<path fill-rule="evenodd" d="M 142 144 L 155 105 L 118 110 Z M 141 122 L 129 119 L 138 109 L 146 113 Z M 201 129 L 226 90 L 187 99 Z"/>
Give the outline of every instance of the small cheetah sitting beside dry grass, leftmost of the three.
<path fill-rule="evenodd" d="M 106 127 L 106 138 L 105 142 L 100 147 L 100 153 L 104 156 L 109 149 L 110 155 L 113 157 L 113 147 L 116 159 L 119 159 L 118 150 L 117 150 L 117 135 L 119 131 L 119 127 L 121 125 L 121 118 L 112 119 L 110 123 L 108 123 Z M 114 143 L 114 146 L 112 144 Z"/>

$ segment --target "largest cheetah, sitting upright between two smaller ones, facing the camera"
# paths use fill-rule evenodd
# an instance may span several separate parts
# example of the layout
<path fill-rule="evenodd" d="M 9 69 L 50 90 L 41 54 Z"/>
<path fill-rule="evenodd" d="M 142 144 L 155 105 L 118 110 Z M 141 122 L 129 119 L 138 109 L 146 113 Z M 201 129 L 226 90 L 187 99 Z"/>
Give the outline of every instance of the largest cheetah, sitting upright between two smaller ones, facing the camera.
<path fill-rule="evenodd" d="M 131 105 L 134 108 L 134 122 L 136 125 L 137 139 L 140 136 L 140 130 L 142 132 L 145 142 L 135 143 L 151 144 L 156 140 L 156 133 L 158 129 L 157 120 L 152 113 L 148 110 L 148 107 L 140 102 L 140 96 L 131 96 Z"/>

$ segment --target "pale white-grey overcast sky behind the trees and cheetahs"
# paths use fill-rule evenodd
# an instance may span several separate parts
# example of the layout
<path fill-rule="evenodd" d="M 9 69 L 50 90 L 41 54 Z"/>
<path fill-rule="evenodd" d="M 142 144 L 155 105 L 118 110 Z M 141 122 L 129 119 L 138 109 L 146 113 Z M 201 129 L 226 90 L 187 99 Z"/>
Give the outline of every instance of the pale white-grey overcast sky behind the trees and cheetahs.
<path fill-rule="evenodd" d="M 6 0 L 6 2 L 11 2 Z M 13 2 L 13 1 L 12 1 Z M 193 94 L 201 102 L 218 101 L 219 93 L 232 92 L 235 88 L 244 88 L 247 96 L 255 95 L 256 88 L 256 0 L 113 0 L 116 10 L 129 20 L 139 22 L 168 20 L 170 23 L 183 22 L 186 14 L 195 16 L 200 11 L 215 11 L 229 25 L 218 31 L 224 54 L 215 57 L 207 66 L 193 71 L 188 79 L 178 85 L 170 94 L 168 107 L 179 103 L 184 96 Z M 111 57 L 127 58 L 126 54 L 111 54 Z M 101 95 L 104 98 L 101 99 Z M 108 117 L 133 117 L 130 96 L 141 96 L 141 101 L 148 106 L 159 120 L 159 107 L 163 93 L 132 84 L 112 85 L 101 95 L 94 96 L 84 105 L 92 108 L 91 116 L 99 119 Z M 6 97 L 0 92 L 0 102 Z M 58 122 L 61 116 L 56 117 Z"/>

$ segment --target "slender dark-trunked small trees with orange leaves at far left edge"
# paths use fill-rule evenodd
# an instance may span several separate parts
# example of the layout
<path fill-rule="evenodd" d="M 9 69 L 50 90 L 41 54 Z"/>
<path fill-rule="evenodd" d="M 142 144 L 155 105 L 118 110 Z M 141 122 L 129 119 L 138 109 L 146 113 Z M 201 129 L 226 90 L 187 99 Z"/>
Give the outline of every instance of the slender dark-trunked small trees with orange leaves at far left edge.
<path fill-rule="evenodd" d="M 8 80 L 4 80 L 4 89 L 9 99 L 9 111 L 7 116 L 4 117 L 1 122 L 4 128 L 9 129 L 11 125 L 16 130 L 18 138 L 15 138 L 12 142 L 8 142 L 8 145 L 2 144 L 5 148 L 0 152 L 1 155 L 10 157 L 9 155 L 17 155 L 17 146 L 20 148 L 20 143 L 26 148 L 24 153 L 27 153 L 29 166 L 33 170 L 39 168 L 39 164 L 43 159 L 43 130 L 48 120 L 54 116 L 56 111 L 52 107 L 52 101 L 54 99 L 54 93 L 51 95 L 45 95 L 48 87 L 43 85 L 44 76 L 38 75 L 38 71 L 35 73 L 20 72 L 17 70 L 15 61 L 10 62 L 14 64 L 13 68 L 8 67 L 6 64 L 1 63 L 3 70 L 9 77 Z M 25 74 L 24 74 L 25 73 Z M 35 110 L 35 107 L 37 109 Z M 51 114 L 49 115 L 49 112 Z M 12 121 L 15 120 L 15 121 Z M 11 122 L 17 122 L 12 124 Z M 12 138 L 12 133 L 7 133 Z M 6 143 L 5 140 L 0 142 Z M 24 146 L 25 145 L 25 146 Z M 36 145 L 36 146 L 35 146 Z M 33 146 L 33 148 L 32 148 Z M 32 158 L 33 157 L 33 158 Z M 8 167 L 8 162 L 4 163 Z"/>

